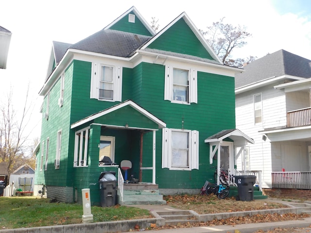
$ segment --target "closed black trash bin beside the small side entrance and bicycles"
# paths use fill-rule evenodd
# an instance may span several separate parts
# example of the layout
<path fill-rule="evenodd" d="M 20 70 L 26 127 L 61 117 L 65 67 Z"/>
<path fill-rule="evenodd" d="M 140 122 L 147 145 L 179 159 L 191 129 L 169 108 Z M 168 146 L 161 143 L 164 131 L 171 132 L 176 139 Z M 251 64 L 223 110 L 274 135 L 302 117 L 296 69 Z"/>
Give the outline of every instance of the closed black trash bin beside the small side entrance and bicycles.
<path fill-rule="evenodd" d="M 235 183 L 238 184 L 238 196 L 236 200 L 250 201 L 254 199 L 256 176 L 235 176 Z"/>

